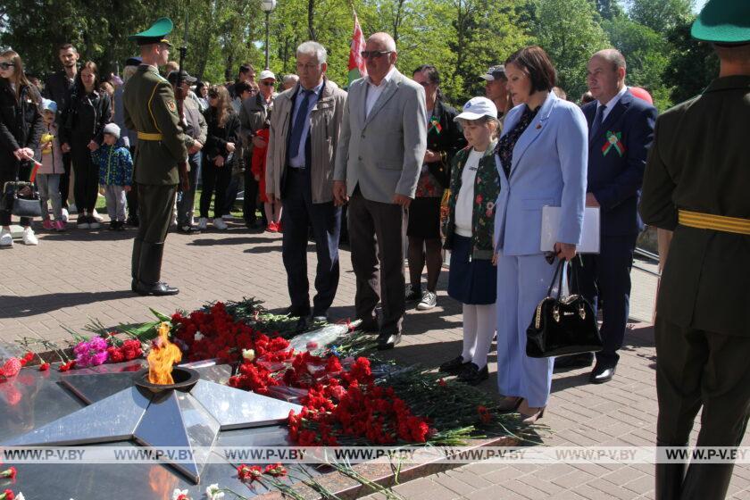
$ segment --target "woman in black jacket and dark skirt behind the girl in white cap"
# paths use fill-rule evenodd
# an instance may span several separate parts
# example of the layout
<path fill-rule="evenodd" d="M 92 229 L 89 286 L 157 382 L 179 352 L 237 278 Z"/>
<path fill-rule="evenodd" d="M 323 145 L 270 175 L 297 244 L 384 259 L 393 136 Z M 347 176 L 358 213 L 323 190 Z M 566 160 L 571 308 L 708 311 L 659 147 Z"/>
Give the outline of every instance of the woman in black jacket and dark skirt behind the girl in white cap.
<path fill-rule="evenodd" d="M 426 311 L 437 305 L 437 278 L 443 265 L 440 244 L 440 201 L 450 184 L 450 164 L 456 151 L 466 145 L 461 127 L 454 121 L 456 111 L 443 102 L 440 75 L 435 66 L 425 64 L 414 70 L 414 81 L 425 91 L 427 104 L 427 151 L 424 154 L 417 190 L 409 206 L 409 277 L 406 300 L 418 301 Z M 421 272 L 427 264 L 427 287 L 421 291 Z"/>

